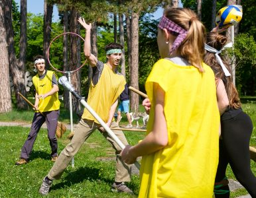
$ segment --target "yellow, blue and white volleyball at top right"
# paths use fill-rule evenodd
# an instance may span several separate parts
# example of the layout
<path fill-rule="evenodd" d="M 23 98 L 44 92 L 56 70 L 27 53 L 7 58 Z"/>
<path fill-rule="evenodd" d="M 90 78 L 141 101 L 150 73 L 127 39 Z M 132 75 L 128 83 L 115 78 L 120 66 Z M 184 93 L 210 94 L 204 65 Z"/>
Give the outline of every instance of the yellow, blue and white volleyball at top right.
<path fill-rule="evenodd" d="M 243 16 L 243 10 L 240 5 L 227 5 L 220 9 L 216 15 L 216 25 L 219 27 L 229 27 L 240 22 Z"/>

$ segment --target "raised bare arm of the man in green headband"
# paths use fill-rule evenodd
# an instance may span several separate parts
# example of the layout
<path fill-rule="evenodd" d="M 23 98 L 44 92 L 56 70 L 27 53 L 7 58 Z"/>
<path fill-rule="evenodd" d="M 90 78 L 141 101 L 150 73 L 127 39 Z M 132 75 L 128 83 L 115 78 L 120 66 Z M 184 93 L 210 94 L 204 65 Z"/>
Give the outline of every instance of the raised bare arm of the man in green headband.
<path fill-rule="evenodd" d="M 87 24 L 84 18 L 79 17 L 78 22 L 86 29 L 86 38 L 84 39 L 84 55 L 92 67 L 97 64 L 97 58 L 91 53 L 91 29 L 92 24 Z"/>

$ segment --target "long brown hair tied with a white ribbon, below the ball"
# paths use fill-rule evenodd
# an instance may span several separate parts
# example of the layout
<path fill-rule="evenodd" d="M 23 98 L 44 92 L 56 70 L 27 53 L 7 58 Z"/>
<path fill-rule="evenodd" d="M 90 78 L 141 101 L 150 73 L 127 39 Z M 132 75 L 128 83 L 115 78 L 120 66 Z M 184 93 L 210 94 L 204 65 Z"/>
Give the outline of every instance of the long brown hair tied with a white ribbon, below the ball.
<path fill-rule="evenodd" d="M 227 37 L 222 34 L 218 34 L 218 32 L 209 32 L 206 35 L 206 44 L 208 44 L 208 46 L 211 46 L 214 49 L 217 49 L 218 51 L 222 49 L 226 43 L 227 43 Z M 225 61 L 225 59 L 222 57 L 221 54 L 219 55 L 225 67 L 227 68 L 229 73 L 231 73 L 231 68 L 229 63 Z M 218 63 L 215 57 L 215 54 L 210 51 L 206 51 L 204 62 L 212 68 L 216 79 L 222 79 L 222 81 L 224 82 L 225 90 L 227 92 L 227 97 L 229 100 L 229 107 L 240 108 L 241 102 L 239 100 L 238 92 L 233 84 L 232 76 L 229 76 L 229 77 L 225 76 L 222 66 Z"/>

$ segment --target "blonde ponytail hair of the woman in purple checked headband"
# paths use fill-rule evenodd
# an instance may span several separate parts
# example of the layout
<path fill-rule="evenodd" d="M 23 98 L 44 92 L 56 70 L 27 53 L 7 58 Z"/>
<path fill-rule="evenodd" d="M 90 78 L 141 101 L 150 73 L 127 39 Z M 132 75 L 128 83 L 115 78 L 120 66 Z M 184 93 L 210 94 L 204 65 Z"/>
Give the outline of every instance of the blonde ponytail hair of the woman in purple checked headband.
<path fill-rule="evenodd" d="M 177 50 L 190 64 L 203 72 L 202 60 L 204 58 L 206 28 L 198 20 L 196 13 L 190 9 L 176 8 L 166 9 L 164 15 L 188 31 L 185 40 Z"/>

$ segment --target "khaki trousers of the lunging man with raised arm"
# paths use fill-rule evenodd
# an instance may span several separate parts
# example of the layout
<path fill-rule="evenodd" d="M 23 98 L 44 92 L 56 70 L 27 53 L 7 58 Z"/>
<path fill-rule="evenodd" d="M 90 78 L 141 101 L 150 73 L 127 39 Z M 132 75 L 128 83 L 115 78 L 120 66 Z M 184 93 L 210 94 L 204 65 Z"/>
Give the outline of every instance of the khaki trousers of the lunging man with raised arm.
<path fill-rule="evenodd" d="M 76 130 L 74 131 L 74 136 L 71 142 L 65 147 L 65 149 L 62 150 L 56 162 L 50 169 L 50 172 L 47 175 L 50 180 L 60 179 L 74 155 L 82 147 L 86 139 L 88 139 L 88 137 L 90 137 L 90 135 L 99 127 L 101 127 L 101 125 L 95 123 L 94 121 L 88 119 L 80 120 Z M 115 121 L 113 121 L 111 123 L 111 127 L 118 127 L 118 125 L 115 123 Z M 113 130 L 113 132 L 124 145 L 128 145 L 123 131 Z M 111 139 L 111 137 L 109 137 L 107 132 L 101 131 L 101 134 L 105 137 L 105 139 L 107 139 L 107 141 L 109 141 L 113 149 L 115 149 L 115 154 L 117 154 L 115 165 L 115 182 L 130 182 L 131 165 L 125 164 L 123 160 L 121 160 L 121 156 L 119 156 L 121 148 L 115 143 L 115 141 L 113 141 L 113 139 Z"/>

